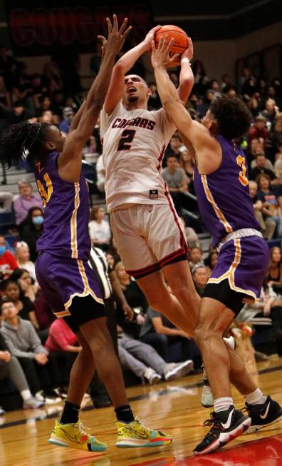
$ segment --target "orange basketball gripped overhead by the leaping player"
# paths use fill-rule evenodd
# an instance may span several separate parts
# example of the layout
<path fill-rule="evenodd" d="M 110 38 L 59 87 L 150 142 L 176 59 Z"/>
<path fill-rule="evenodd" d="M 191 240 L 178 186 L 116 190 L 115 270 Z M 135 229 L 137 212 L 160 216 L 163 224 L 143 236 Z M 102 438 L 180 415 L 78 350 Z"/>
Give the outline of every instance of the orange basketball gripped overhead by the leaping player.
<path fill-rule="evenodd" d="M 180 64 L 180 58 L 183 52 L 187 49 L 189 42 L 188 36 L 183 29 L 173 26 L 172 24 L 167 24 L 166 26 L 162 26 L 156 33 L 155 33 L 155 44 L 156 46 L 159 44 L 160 38 L 163 36 L 167 36 L 167 40 L 174 38 L 174 44 L 172 45 L 172 49 L 170 51 L 171 55 L 179 54 L 179 57 L 176 61 L 172 64 L 169 64 L 169 68 L 172 66 L 178 66 Z"/>

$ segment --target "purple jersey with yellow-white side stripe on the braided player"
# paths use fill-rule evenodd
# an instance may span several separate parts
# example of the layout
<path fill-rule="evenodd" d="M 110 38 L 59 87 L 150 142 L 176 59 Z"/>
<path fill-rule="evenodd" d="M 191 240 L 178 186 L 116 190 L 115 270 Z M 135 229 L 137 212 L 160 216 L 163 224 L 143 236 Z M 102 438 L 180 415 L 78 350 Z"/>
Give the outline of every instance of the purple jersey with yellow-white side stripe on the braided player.
<path fill-rule="evenodd" d="M 43 234 L 36 247 L 38 252 L 88 260 L 91 248 L 88 186 L 82 171 L 78 183 L 68 183 L 58 176 L 58 155 L 50 153 L 35 167 L 45 212 Z"/>

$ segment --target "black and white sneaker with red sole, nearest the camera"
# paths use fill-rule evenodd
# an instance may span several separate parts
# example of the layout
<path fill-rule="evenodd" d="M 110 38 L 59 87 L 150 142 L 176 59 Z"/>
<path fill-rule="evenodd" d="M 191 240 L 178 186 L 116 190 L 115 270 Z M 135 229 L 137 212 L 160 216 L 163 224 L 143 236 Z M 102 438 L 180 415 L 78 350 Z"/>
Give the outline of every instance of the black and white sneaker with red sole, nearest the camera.
<path fill-rule="evenodd" d="M 211 418 L 205 421 L 204 425 L 212 427 L 202 442 L 194 448 L 194 455 L 205 455 L 224 447 L 249 428 L 251 417 L 244 416 L 232 405 L 226 411 L 211 412 Z"/>

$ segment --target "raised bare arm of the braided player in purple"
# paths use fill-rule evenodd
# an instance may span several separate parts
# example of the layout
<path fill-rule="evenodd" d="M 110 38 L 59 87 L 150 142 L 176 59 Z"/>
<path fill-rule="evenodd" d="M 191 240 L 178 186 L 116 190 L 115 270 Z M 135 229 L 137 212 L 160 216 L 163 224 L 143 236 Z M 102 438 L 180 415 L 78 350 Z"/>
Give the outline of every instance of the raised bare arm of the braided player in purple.
<path fill-rule="evenodd" d="M 113 26 L 108 22 L 108 40 L 103 40 L 103 61 L 98 75 L 88 92 L 85 103 L 78 111 L 75 124 L 78 125 L 66 138 L 63 152 L 58 156 L 58 173 L 64 181 L 75 183 L 79 180 L 81 170 L 82 150 L 88 138 L 90 138 L 99 113 L 103 108 L 105 96 L 110 85 L 110 76 L 113 71 L 115 56 L 119 53 L 125 41 L 125 37 L 130 32 L 131 26 L 125 30 L 127 19 L 123 22 L 120 30 L 117 26 L 117 17 L 113 17 Z M 81 113 L 80 113 L 81 112 Z M 75 125 L 73 125 L 75 126 Z"/>

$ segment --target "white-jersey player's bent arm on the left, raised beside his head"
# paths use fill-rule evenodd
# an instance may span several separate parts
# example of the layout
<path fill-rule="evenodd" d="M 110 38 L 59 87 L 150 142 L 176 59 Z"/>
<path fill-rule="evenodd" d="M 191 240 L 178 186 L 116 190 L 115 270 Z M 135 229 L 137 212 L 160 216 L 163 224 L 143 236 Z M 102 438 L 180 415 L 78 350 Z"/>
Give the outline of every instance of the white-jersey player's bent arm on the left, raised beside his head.
<path fill-rule="evenodd" d="M 108 90 L 107 97 L 105 99 L 105 112 L 110 115 L 115 110 L 117 103 L 122 98 L 123 86 L 125 83 L 125 74 L 129 71 L 145 51 L 151 49 L 151 42 L 154 39 L 155 31 L 160 29 L 160 26 L 156 26 L 151 29 L 144 41 L 140 42 L 133 49 L 129 50 L 124 54 L 115 64 L 113 69 L 112 78 L 110 80 L 110 88 Z"/>

